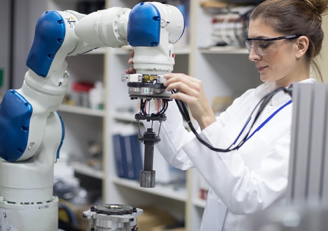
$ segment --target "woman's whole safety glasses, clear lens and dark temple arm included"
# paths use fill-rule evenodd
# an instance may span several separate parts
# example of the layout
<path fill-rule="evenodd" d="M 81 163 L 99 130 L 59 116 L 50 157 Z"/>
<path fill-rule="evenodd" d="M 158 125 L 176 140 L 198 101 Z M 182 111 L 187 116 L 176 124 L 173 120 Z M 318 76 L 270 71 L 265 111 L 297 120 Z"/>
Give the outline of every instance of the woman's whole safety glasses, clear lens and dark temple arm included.
<path fill-rule="evenodd" d="M 297 39 L 301 37 L 300 35 L 288 35 L 281 36 L 271 39 L 262 39 L 262 38 L 247 38 L 245 39 L 245 44 L 247 50 L 251 53 L 251 49 L 255 51 L 257 55 L 266 56 L 270 55 L 276 50 L 278 50 L 277 40 L 282 39 Z"/>

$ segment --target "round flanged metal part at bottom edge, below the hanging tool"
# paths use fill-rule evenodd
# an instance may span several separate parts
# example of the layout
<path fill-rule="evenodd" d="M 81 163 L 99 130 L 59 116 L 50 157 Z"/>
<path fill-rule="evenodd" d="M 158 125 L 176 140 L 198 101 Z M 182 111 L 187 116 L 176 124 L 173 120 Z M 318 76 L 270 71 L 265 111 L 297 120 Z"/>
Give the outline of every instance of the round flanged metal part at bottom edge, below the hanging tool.
<path fill-rule="evenodd" d="M 88 219 L 88 231 L 137 231 L 137 217 L 142 213 L 127 205 L 105 204 L 91 207 L 83 217 Z"/>

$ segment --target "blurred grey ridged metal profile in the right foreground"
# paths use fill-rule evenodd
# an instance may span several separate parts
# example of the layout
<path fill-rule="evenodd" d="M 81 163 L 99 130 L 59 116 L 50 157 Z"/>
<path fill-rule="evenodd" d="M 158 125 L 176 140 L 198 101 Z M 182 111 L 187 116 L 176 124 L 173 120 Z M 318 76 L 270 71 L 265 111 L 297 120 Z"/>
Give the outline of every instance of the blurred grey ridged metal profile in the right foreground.
<path fill-rule="evenodd" d="M 293 84 L 289 204 L 328 200 L 328 85 Z"/>

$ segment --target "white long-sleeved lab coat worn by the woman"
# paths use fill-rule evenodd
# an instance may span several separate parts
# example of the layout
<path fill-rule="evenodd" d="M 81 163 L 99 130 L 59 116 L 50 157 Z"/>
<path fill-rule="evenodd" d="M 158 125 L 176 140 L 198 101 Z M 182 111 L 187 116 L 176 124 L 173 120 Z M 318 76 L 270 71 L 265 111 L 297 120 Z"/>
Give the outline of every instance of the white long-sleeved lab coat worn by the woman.
<path fill-rule="evenodd" d="M 315 80 L 310 78 L 302 82 Z M 200 135 L 213 147 L 229 147 L 258 101 L 273 89 L 274 83 L 268 82 L 248 90 Z M 283 92 L 273 96 L 252 130 L 289 100 L 290 96 Z M 157 149 L 178 169 L 195 167 L 210 185 L 200 231 L 244 231 L 243 222 L 248 214 L 284 203 L 292 104 L 272 117 L 244 146 L 230 153 L 213 152 L 188 133 L 174 102 L 170 103 L 166 114 L 167 121 L 162 123 Z"/>

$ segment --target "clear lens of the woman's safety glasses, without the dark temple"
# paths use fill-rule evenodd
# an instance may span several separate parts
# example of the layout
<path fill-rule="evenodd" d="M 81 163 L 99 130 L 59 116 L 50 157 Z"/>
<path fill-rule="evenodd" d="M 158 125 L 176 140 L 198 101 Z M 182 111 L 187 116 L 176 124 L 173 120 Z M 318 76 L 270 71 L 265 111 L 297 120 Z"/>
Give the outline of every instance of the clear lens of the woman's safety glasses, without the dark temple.
<path fill-rule="evenodd" d="M 278 44 L 276 40 L 245 40 L 245 44 L 249 53 L 251 53 L 251 49 L 253 49 L 254 52 L 260 56 L 270 55 L 278 50 Z"/>

